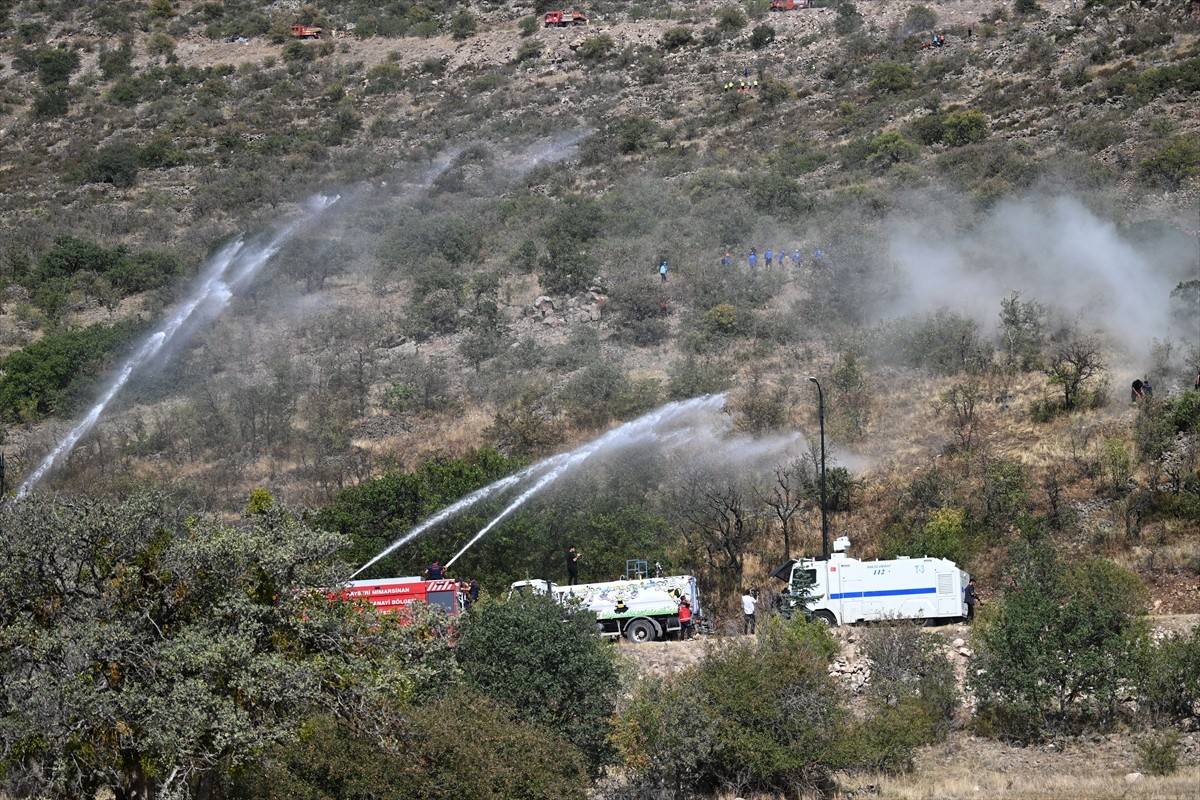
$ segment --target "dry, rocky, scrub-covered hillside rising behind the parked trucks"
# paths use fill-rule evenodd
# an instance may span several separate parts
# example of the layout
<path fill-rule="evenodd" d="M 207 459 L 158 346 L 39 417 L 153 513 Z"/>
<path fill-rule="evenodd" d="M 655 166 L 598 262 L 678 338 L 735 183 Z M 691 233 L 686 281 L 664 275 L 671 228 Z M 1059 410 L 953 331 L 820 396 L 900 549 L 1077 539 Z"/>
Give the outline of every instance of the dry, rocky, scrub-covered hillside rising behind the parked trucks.
<path fill-rule="evenodd" d="M 946 503 L 994 531 L 1028 504 L 1069 512 L 1073 546 L 1128 561 L 1162 610 L 1196 609 L 1194 509 L 1159 511 L 1162 445 L 1122 389 L 1198 371 L 1200 44 L 1178 4 L 600 5 L 571 29 L 517 7 L 10 6 L 0 354 L 66 354 L 6 375 L 10 485 L 187 307 L 205 253 L 283 230 L 55 487 L 322 504 L 704 391 L 732 392 L 738 431 L 811 441 L 814 374 L 833 458 L 863 477 L 835 525 L 864 554 Z M 288 41 L 295 20 L 326 37 Z M 407 34 L 366 35 L 389 26 Z M 342 199 L 310 219 L 317 192 Z M 773 242 L 798 261 L 746 266 Z M 1075 414 L 1055 409 L 1063 343 L 1098 367 Z M 1163 498 L 1192 486 L 1192 441 Z"/>

